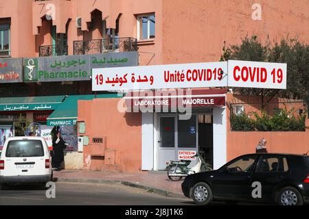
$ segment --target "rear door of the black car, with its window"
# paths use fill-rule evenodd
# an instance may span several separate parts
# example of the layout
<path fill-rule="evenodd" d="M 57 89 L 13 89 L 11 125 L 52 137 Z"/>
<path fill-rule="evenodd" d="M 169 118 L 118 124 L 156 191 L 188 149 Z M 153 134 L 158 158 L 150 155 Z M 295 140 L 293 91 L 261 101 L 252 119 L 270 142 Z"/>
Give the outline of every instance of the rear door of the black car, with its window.
<path fill-rule="evenodd" d="M 252 175 L 252 181 L 261 184 L 260 200 L 273 201 L 275 188 L 286 177 L 288 177 L 288 163 L 285 156 L 261 155 Z"/>

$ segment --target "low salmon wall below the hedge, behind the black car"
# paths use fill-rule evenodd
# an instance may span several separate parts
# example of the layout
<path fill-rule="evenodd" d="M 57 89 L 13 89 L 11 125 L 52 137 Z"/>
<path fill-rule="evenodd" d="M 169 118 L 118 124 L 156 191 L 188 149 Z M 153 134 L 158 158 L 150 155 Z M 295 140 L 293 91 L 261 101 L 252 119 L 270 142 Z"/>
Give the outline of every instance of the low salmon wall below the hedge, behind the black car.
<path fill-rule="evenodd" d="M 227 94 L 227 103 L 232 103 L 233 98 L 232 94 Z M 255 146 L 261 138 L 266 138 L 269 153 L 303 154 L 309 150 L 308 118 L 306 131 L 231 131 L 229 115 L 230 109 L 227 107 L 227 161 L 239 155 L 255 153 Z"/>

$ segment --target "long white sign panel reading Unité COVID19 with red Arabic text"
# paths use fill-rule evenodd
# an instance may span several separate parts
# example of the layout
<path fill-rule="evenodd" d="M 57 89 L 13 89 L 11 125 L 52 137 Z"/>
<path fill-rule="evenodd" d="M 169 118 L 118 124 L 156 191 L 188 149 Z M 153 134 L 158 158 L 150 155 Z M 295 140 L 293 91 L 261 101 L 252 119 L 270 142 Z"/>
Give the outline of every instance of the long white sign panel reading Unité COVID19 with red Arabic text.
<path fill-rule="evenodd" d="M 92 90 L 150 90 L 227 86 L 227 62 L 93 68 Z"/>

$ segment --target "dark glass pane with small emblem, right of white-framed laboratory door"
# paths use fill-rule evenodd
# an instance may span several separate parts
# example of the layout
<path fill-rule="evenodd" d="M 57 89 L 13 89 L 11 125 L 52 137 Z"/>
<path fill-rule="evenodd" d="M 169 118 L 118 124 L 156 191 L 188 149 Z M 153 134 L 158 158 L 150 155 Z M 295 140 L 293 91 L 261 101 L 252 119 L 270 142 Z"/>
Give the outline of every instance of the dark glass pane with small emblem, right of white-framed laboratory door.
<path fill-rule="evenodd" d="M 196 148 L 196 115 L 190 120 L 178 120 L 178 147 Z"/>

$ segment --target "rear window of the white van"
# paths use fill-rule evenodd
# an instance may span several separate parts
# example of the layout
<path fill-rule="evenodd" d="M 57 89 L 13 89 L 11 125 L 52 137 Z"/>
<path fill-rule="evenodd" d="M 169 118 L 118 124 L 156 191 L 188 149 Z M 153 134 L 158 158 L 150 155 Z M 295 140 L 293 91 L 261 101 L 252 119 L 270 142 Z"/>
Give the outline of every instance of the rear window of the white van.
<path fill-rule="evenodd" d="M 5 157 L 43 157 L 41 140 L 11 140 L 8 142 Z"/>

